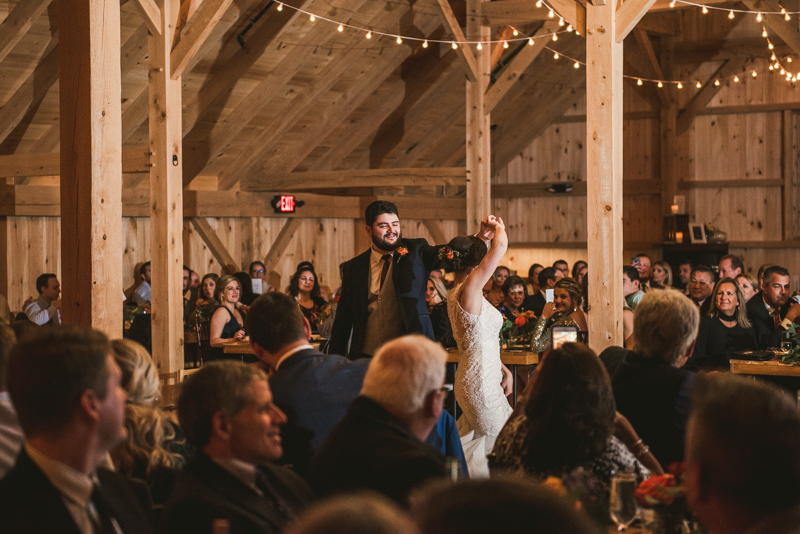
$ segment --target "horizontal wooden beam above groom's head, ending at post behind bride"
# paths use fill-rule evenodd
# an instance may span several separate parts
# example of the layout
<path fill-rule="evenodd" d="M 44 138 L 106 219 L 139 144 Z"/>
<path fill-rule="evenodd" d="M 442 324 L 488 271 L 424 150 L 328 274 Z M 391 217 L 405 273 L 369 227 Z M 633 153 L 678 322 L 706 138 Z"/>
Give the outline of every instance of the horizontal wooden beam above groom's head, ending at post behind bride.
<path fill-rule="evenodd" d="M 2 156 L 0 156 L 2 157 Z M 0 160 L 2 161 L 2 160 Z M 432 169 L 362 169 L 323 172 L 290 172 L 242 180 L 242 191 L 302 190 L 340 187 L 464 185 L 464 167 Z"/>

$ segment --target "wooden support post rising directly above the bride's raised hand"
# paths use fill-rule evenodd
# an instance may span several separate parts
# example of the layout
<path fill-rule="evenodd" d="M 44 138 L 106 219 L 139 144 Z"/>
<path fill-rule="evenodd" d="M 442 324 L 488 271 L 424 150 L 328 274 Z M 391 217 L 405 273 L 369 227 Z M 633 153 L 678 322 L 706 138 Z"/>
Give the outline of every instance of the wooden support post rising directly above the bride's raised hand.
<path fill-rule="evenodd" d="M 467 0 L 467 37 L 488 41 L 491 28 L 481 25 L 484 0 Z M 486 90 L 491 81 L 491 50 L 476 50 L 478 79 L 467 81 L 467 232 L 480 229 L 481 220 L 492 212 L 491 114 L 484 112 Z"/>

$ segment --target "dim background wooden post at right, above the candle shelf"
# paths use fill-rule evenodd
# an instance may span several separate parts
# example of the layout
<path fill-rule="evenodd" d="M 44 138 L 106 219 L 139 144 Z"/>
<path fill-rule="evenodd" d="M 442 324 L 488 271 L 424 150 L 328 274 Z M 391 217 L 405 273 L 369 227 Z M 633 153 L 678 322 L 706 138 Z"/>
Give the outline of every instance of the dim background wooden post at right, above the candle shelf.
<path fill-rule="evenodd" d="M 674 73 L 672 60 L 674 48 L 673 37 L 661 38 L 660 70 L 667 80 L 671 80 Z M 672 213 L 670 208 L 673 199 L 678 194 L 678 176 L 675 173 L 678 102 L 677 95 L 672 89 L 663 91 L 663 94 L 666 96 L 667 106 L 661 108 L 661 212 L 663 215 L 669 215 Z"/>

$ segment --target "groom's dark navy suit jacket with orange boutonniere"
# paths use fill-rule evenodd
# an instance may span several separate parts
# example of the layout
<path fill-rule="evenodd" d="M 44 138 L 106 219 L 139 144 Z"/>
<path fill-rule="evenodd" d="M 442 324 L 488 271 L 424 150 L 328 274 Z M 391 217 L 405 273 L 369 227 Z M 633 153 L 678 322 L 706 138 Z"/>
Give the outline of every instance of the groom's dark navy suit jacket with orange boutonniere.
<path fill-rule="evenodd" d="M 425 303 L 425 290 L 431 269 L 439 261 L 439 247 L 428 245 L 424 239 L 401 239 L 397 246 L 408 250 L 404 255 L 395 251 L 392 258 L 392 281 L 403 317 L 402 332 L 434 339 L 433 325 Z M 371 281 L 370 254 L 372 248 L 342 266 L 342 293 L 331 331 L 331 354 L 347 354 L 350 359 L 361 355 Z M 347 340 L 350 339 L 351 330 L 353 340 L 348 352 Z"/>

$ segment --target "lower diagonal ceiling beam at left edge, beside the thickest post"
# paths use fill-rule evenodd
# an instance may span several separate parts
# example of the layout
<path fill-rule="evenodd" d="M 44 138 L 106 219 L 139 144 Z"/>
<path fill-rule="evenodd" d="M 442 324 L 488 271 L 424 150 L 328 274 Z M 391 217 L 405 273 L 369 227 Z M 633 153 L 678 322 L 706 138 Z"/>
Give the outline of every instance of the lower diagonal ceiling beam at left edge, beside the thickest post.
<path fill-rule="evenodd" d="M 0 143 L 28 111 L 38 105 L 58 80 L 58 40 L 52 39 L 42 61 L 0 109 Z"/>

